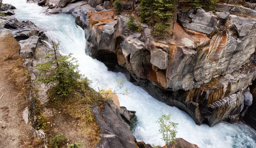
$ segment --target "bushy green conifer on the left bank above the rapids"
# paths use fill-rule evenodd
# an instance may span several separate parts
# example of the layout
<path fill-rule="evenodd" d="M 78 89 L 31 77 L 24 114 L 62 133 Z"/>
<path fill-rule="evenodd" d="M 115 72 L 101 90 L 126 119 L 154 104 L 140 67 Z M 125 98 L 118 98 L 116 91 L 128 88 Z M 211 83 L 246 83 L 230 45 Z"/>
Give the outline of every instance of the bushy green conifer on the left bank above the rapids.
<path fill-rule="evenodd" d="M 41 81 L 45 84 L 52 82 L 53 88 L 50 95 L 57 98 L 66 98 L 76 88 L 81 74 L 79 74 L 77 61 L 72 57 L 72 54 L 60 55 L 56 52 L 59 50 L 59 44 L 55 42 L 52 42 L 52 44 L 54 53 L 44 57 L 47 62 L 36 65 L 40 74 L 36 82 Z"/>

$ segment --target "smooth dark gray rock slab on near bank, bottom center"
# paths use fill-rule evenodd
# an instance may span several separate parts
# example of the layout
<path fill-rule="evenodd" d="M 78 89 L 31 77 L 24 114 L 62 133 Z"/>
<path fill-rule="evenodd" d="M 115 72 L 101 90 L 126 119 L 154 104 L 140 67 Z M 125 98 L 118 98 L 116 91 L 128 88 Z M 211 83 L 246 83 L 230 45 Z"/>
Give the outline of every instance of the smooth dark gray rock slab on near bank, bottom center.
<path fill-rule="evenodd" d="M 104 104 L 104 111 L 92 104 L 92 112 L 101 128 L 101 140 L 96 148 L 134 148 L 135 138 L 113 101 Z"/>

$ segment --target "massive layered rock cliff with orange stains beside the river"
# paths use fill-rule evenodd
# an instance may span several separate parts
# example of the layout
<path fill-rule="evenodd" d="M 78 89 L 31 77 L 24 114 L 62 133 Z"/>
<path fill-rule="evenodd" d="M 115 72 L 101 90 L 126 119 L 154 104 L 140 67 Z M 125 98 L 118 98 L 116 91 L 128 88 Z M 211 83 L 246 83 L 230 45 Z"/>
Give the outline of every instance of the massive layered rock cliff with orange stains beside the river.
<path fill-rule="evenodd" d="M 147 25 L 143 34 L 132 32 L 128 17 L 111 9 L 97 11 L 89 3 L 72 15 L 84 28 L 88 55 L 117 61 L 130 81 L 184 110 L 198 125 L 236 122 L 246 111 L 244 93 L 256 75 L 249 62 L 256 48 L 253 18 L 191 8 L 178 14 L 175 36 L 162 41 Z"/>

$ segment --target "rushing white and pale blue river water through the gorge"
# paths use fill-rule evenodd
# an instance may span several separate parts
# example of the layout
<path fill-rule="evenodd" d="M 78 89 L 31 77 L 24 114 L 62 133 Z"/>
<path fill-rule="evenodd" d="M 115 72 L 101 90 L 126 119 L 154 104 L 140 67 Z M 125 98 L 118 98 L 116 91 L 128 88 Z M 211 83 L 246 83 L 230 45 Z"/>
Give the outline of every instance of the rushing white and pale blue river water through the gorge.
<path fill-rule="evenodd" d="M 107 87 L 114 88 L 115 79 L 124 77 L 122 73 L 108 71 L 103 63 L 85 54 L 84 31 L 76 25 L 70 14 L 46 15 L 46 8 L 26 3 L 26 0 L 3 0 L 3 3 L 11 3 L 17 8 L 15 17 L 18 20 L 34 22 L 49 38 L 60 42 L 64 53 L 74 53 L 73 56 L 79 60 L 81 73 L 93 81 L 92 86 L 104 89 L 108 84 Z M 244 123 L 219 123 L 212 128 L 207 125 L 197 126 L 188 114 L 155 100 L 142 88 L 128 81 L 125 81 L 124 88 L 128 88 L 131 93 L 120 96 L 120 104 L 137 112 L 137 126 L 133 134 L 138 141 L 164 145 L 160 139 L 158 124 L 155 123 L 162 109 L 166 114 L 172 112 L 172 120 L 179 123 L 177 137 L 201 148 L 256 148 L 256 132 Z"/>

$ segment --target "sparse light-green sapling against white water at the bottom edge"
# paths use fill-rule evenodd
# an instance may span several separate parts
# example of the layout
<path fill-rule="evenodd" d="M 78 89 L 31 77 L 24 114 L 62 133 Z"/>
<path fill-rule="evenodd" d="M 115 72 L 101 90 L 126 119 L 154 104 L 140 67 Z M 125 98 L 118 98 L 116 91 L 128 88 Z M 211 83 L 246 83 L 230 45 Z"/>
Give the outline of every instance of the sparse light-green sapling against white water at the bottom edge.
<path fill-rule="evenodd" d="M 172 114 L 163 114 L 161 113 L 161 117 L 158 118 L 157 123 L 160 124 L 159 132 L 162 134 L 162 140 L 166 143 L 167 148 L 168 144 L 175 143 L 174 139 L 177 134 L 177 125 L 178 123 L 174 123 L 171 121 Z"/>

